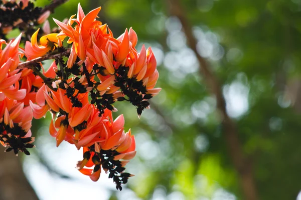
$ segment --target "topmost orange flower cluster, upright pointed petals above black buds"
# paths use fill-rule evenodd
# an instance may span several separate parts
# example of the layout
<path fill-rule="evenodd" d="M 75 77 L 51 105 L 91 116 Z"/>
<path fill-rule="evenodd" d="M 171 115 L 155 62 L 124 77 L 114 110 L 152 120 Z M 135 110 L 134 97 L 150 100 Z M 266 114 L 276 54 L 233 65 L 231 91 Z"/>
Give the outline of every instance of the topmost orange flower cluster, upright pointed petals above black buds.
<path fill-rule="evenodd" d="M 62 29 L 59 35 L 68 36 L 67 42 L 72 43 L 67 66 L 71 68 L 78 56 L 86 62 L 89 72 L 95 63 L 104 67 L 102 72 L 99 72 L 100 69 L 96 70 L 99 80 L 102 81 L 97 89 L 102 93 L 113 93 L 120 89 L 120 86 L 114 84 L 115 74 L 118 68 L 124 66 L 128 78 L 141 81 L 146 93 L 157 95 L 161 88 L 154 89 L 159 73 L 152 48 L 146 50 L 142 45 L 139 53 L 135 49 L 137 35 L 132 28 L 129 31 L 125 29 L 122 35 L 114 38 L 107 24 L 95 20 L 100 9 L 98 7 L 85 15 L 79 4 L 76 19 L 72 15 L 67 24 L 54 19 Z"/>

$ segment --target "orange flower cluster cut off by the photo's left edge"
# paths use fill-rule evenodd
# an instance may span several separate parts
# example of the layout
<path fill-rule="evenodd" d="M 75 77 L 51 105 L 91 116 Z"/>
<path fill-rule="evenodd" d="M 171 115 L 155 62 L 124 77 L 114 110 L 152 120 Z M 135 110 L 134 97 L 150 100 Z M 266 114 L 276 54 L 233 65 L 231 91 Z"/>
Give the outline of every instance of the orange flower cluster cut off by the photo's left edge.
<path fill-rule="evenodd" d="M 24 56 L 20 40 L 21 34 L 9 43 L 0 40 L 0 142 L 8 147 L 6 151 L 14 150 L 16 155 L 18 151 L 30 154 L 27 148 L 34 147 L 30 130 L 33 111 L 29 102 L 36 102 L 37 91 L 43 85 L 41 77 L 31 69 L 18 69 L 20 57 Z M 53 70 L 44 74 L 55 76 Z"/>

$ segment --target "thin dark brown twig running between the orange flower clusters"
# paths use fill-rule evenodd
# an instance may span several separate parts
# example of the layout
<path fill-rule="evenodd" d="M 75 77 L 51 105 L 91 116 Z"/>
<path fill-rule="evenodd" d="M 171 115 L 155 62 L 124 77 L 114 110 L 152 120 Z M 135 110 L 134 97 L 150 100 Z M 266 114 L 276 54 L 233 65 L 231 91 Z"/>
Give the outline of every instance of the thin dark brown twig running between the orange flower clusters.
<path fill-rule="evenodd" d="M 68 48 L 66 51 L 64 51 L 62 53 L 57 53 L 57 54 L 47 53 L 46 55 L 44 55 L 42 57 L 37 57 L 35 59 L 29 60 L 29 61 L 26 61 L 26 62 L 21 62 L 18 65 L 18 68 L 19 69 L 22 69 L 22 68 L 30 68 L 30 69 L 32 69 L 33 67 L 36 66 L 37 63 L 42 62 L 44 60 L 47 60 L 47 59 L 56 59 L 56 58 L 60 58 L 62 56 L 69 56 L 69 55 L 70 55 L 70 48 Z"/>

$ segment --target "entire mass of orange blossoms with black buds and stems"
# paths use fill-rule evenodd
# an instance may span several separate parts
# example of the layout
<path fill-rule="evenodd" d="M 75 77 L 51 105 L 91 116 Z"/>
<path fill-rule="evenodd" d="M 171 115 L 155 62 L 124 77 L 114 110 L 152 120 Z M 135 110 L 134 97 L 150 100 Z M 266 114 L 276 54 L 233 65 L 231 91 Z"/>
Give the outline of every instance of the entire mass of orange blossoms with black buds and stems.
<path fill-rule="evenodd" d="M 50 112 L 49 132 L 57 146 L 65 140 L 83 148 L 77 169 L 97 181 L 102 168 L 121 190 L 132 176 L 124 166 L 136 154 L 135 139 L 124 130 L 122 114 L 113 119 L 113 104 L 129 101 L 140 116 L 161 88 L 155 88 L 159 73 L 152 48 L 137 51 L 132 28 L 114 38 L 108 25 L 96 20 L 99 11 L 85 15 L 79 4 L 77 18 L 54 19 L 59 33 L 38 39 L 37 29 L 24 49 L 22 33 L 9 43 L 0 40 L 6 43 L 0 51 L 0 142 L 7 151 L 29 154 L 31 120 Z M 20 62 L 23 56 L 26 62 Z M 41 61 L 51 58 L 45 71 Z"/>

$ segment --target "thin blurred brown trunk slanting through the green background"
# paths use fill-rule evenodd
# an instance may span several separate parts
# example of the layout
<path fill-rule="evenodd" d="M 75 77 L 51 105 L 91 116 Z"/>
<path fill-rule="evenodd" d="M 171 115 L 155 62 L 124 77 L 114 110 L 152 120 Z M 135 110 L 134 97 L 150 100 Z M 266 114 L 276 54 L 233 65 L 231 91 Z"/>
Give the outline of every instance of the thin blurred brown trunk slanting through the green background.
<path fill-rule="evenodd" d="M 250 161 L 246 159 L 243 153 L 236 124 L 229 117 L 226 111 L 226 101 L 222 93 L 221 85 L 215 75 L 212 73 L 209 63 L 197 51 L 197 40 L 193 35 L 192 27 L 183 11 L 183 6 L 180 4 L 179 0 L 167 0 L 167 2 L 171 15 L 177 16 L 181 21 L 183 31 L 187 37 L 188 45 L 194 51 L 200 63 L 201 75 L 205 78 L 205 81 L 210 88 L 210 92 L 215 95 L 217 109 L 222 118 L 223 133 L 226 138 L 226 144 L 228 146 L 233 165 L 240 176 L 240 181 L 245 196 L 244 199 L 258 199 L 252 165 L 250 164 Z"/>

